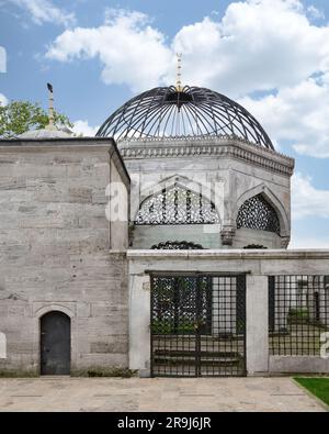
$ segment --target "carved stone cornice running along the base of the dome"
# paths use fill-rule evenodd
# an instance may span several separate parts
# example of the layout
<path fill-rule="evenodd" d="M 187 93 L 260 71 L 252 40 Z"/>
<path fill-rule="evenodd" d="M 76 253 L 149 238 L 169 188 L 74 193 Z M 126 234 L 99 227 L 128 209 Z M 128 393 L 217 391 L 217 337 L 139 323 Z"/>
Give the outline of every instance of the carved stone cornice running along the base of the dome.
<path fill-rule="evenodd" d="M 295 160 L 275 151 L 231 137 L 125 140 L 118 144 L 124 159 L 217 156 L 235 158 L 292 176 Z"/>

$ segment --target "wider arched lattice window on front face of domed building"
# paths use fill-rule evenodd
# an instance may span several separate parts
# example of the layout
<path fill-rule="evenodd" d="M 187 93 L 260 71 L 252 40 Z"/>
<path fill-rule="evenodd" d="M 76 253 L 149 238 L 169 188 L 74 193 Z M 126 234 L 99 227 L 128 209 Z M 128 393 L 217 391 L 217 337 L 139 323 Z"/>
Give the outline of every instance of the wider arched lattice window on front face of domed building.
<path fill-rule="evenodd" d="M 145 199 L 135 219 L 135 224 L 200 223 L 219 223 L 214 203 L 179 185 Z"/>

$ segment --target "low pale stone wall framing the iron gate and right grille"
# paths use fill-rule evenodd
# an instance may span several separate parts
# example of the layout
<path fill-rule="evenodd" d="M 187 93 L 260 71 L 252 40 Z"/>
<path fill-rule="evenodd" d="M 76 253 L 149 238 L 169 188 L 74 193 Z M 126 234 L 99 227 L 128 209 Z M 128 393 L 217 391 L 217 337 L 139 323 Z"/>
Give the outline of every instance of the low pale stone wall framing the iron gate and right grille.
<path fill-rule="evenodd" d="M 268 276 L 328 275 L 329 251 L 134 251 L 129 260 L 129 366 L 150 375 L 150 275 L 246 274 L 248 375 L 329 372 L 329 354 L 270 355 Z M 329 293 L 329 292 L 328 292 Z M 282 293 L 281 293 L 282 297 Z M 287 300 L 290 294 L 287 293 Z M 325 304 L 324 304 L 325 305 Z M 329 313 L 328 305 L 326 308 Z M 280 312 L 279 312 L 280 314 Z M 329 316 L 324 320 L 329 331 Z M 306 326 L 304 326 L 306 327 Z M 324 333 L 326 329 L 324 329 Z M 307 344 L 305 344 L 307 346 Z"/>

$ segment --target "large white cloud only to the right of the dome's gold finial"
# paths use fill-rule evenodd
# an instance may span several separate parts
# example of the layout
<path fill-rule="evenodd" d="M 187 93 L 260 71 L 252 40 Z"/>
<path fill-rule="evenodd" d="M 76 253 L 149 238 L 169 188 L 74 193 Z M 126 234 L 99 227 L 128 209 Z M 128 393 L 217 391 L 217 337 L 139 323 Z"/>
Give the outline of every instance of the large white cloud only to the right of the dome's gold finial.
<path fill-rule="evenodd" d="M 297 0 L 230 3 L 222 21 L 182 27 L 173 47 L 184 54 L 188 81 L 234 97 L 329 69 L 329 27 L 313 25 Z"/>

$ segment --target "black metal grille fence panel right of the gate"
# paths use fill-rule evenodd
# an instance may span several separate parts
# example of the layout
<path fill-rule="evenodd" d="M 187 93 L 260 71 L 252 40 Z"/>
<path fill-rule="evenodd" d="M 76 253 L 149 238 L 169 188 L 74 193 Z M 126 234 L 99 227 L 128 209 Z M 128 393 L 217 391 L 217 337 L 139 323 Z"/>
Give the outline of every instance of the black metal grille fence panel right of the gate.
<path fill-rule="evenodd" d="M 329 276 L 269 277 L 270 354 L 319 356 L 329 331 Z"/>

